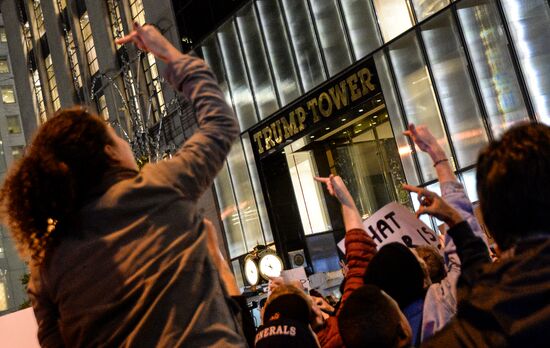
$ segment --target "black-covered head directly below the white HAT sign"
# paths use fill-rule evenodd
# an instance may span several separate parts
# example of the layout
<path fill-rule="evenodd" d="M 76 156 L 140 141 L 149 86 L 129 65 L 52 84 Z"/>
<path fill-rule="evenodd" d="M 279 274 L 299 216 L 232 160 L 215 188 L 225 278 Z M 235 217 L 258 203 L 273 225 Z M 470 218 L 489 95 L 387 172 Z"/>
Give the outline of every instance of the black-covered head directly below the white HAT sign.
<path fill-rule="evenodd" d="M 401 243 L 384 245 L 369 262 L 365 284 L 378 286 L 399 307 L 405 308 L 425 295 L 424 271 L 416 256 Z"/>

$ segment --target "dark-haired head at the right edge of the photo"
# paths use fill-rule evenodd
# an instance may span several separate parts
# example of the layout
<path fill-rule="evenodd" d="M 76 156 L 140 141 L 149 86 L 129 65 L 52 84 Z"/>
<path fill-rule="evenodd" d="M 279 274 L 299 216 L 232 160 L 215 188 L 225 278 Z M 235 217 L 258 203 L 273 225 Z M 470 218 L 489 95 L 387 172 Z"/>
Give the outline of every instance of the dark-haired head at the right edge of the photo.
<path fill-rule="evenodd" d="M 501 250 L 550 231 L 550 128 L 522 124 L 481 151 L 477 191 L 483 220 Z"/>

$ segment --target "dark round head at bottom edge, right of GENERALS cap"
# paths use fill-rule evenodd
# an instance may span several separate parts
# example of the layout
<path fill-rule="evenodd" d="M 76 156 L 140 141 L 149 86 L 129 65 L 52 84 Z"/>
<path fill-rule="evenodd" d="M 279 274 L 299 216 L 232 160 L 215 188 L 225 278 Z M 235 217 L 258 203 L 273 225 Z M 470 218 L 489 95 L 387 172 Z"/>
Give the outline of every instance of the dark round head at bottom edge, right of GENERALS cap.
<path fill-rule="evenodd" d="M 344 302 L 338 330 L 347 348 L 397 347 L 402 335 L 399 308 L 380 288 L 364 285 Z"/>

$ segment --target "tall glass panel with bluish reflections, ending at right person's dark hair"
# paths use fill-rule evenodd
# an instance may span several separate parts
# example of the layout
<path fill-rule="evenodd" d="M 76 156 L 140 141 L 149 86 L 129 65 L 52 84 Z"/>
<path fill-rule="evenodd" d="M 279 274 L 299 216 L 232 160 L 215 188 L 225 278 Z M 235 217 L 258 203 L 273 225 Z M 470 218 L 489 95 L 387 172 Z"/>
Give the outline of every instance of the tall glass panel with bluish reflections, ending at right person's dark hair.
<path fill-rule="evenodd" d="M 462 1 L 457 9 L 491 130 L 498 137 L 528 118 L 498 9 L 493 0 Z"/>

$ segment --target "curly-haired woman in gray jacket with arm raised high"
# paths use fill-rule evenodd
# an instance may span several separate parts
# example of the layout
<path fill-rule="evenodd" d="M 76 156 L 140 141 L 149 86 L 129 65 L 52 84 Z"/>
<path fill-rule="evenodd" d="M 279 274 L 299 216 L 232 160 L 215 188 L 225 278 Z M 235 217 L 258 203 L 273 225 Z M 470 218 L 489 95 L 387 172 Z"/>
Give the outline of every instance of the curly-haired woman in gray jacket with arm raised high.
<path fill-rule="evenodd" d="M 42 125 L 1 191 L 5 221 L 30 260 L 29 296 L 44 347 L 241 347 L 197 200 L 239 134 L 204 61 L 153 26 L 135 43 L 167 64 L 198 130 L 141 171 L 96 115 L 61 110 Z"/>

